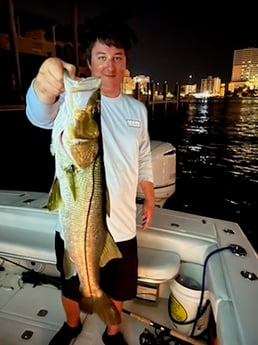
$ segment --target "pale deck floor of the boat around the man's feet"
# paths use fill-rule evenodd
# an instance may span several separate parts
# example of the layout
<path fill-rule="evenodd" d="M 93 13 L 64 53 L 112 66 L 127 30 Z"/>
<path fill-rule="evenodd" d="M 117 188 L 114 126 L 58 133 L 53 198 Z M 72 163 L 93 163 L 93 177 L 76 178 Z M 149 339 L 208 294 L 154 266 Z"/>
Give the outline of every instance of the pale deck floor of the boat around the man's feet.
<path fill-rule="evenodd" d="M 60 291 L 53 285 L 21 284 L 20 274 L 0 271 L 0 345 L 47 345 L 64 322 Z M 171 327 L 167 299 L 126 302 L 124 308 L 144 318 Z M 83 330 L 71 344 L 102 345 L 105 325 L 95 314 L 82 313 Z M 154 329 L 124 314 L 122 331 L 129 345 L 138 345 L 145 328 Z"/>

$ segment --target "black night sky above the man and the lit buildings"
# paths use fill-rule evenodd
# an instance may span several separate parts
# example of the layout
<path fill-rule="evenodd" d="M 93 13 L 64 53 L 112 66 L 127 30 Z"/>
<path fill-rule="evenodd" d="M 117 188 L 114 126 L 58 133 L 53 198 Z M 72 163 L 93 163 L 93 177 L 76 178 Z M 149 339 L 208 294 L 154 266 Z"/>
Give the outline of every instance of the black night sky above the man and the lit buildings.
<path fill-rule="evenodd" d="M 13 0 L 15 9 L 45 15 L 60 24 L 71 23 L 73 1 Z M 234 49 L 258 47 L 256 18 L 250 7 L 237 9 L 225 1 L 189 5 L 187 2 L 157 0 L 103 1 L 77 0 L 78 19 L 100 13 L 117 13 L 127 17 L 138 37 L 132 48 L 131 76 L 150 76 L 154 82 L 186 84 L 189 75 L 200 85 L 201 78 L 231 79 Z M 225 6 L 225 8 L 224 8 Z M 226 8 L 227 7 L 227 8 Z M 231 9 L 229 9 L 231 7 Z"/>

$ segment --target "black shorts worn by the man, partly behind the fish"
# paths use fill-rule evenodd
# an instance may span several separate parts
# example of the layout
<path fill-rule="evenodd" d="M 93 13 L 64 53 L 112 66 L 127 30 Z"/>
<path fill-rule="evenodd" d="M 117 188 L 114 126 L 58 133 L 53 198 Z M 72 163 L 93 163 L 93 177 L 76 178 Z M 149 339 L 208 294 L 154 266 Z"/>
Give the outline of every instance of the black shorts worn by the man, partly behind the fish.
<path fill-rule="evenodd" d="M 136 237 L 117 242 L 122 254 L 121 259 L 113 259 L 100 268 L 100 287 L 114 300 L 133 299 L 137 292 L 138 254 Z M 55 236 L 56 266 L 61 273 L 62 294 L 74 301 L 79 301 L 79 278 L 65 279 L 63 271 L 64 241 L 59 232 Z"/>

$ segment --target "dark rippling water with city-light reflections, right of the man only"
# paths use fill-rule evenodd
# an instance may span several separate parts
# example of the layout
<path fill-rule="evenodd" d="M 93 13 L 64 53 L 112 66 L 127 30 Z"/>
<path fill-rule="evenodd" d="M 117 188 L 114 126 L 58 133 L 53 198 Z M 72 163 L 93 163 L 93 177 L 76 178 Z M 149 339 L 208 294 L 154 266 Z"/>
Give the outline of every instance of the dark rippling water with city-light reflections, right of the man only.
<path fill-rule="evenodd" d="M 166 116 L 160 105 L 150 132 L 177 148 L 165 206 L 237 222 L 258 251 L 258 99 L 192 103 Z"/>

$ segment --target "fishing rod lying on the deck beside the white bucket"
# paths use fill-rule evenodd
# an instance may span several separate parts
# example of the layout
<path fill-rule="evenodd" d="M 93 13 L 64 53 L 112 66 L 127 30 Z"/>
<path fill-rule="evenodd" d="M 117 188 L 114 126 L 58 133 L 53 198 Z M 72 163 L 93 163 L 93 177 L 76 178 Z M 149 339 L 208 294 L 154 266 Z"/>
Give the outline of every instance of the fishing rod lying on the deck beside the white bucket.
<path fill-rule="evenodd" d="M 131 316 L 132 318 L 138 320 L 138 321 L 141 321 L 145 324 L 148 324 L 149 326 L 152 326 L 154 327 L 155 329 L 159 329 L 161 331 L 165 331 L 167 332 L 169 335 L 171 335 L 172 337 L 175 337 L 177 339 L 180 339 L 180 340 L 183 340 L 185 341 L 186 343 L 189 343 L 189 344 L 193 344 L 193 345 L 207 345 L 207 342 L 205 340 L 200 340 L 200 339 L 195 339 L 195 338 L 192 338 L 192 337 L 189 337 L 185 334 L 182 334 L 180 332 L 177 332 L 173 329 L 170 329 L 166 326 L 162 326 L 161 324 L 158 324 L 142 315 L 139 315 L 139 314 L 136 314 L 136 313 L 133 313 L 129 310 L 126 310 L 126 309 L 122 309 L 122 311 Z"/>

